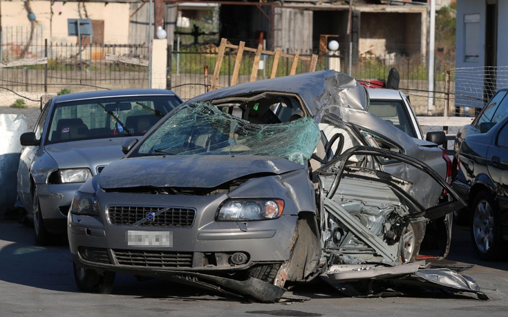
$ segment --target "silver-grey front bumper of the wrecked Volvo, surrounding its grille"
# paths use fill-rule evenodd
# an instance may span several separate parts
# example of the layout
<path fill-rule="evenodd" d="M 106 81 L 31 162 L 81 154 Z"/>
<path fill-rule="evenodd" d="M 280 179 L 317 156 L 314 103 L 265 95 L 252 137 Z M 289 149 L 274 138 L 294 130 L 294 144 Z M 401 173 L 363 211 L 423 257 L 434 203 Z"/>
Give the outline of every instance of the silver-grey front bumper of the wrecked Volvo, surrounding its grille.
<path fill-rule="evenodd" d="M 134 275 L 174 275 L 174 271 L 241 271 L 257 264 L 282 263 L 290 258 L 290 246 L 297 215 L 276 220 L 216 222 L 218 206 L 227 195 L 141 195 L 102 193 L 102 206 L 125 202 L 129 208 L 178 206 L 192 209 L 194 219 L 188 227 L 112 224 L 109 212 L 100 216 L 68 214 L 70 251 L 80 265 L 88 268 L 122 271 Z M 147 197 L 149 196 L 149 197 Z M 191 198 L 191 199 L 189 199 Z M 110 210 L 104 208 L 105 210 Z M 170 236 L 165 245 L 141 246 L 129 242 L 129 234 Z M 164 242 L 165 243 L 165 242 Z M 232 260 L 235 253 L 245 261 Z"/>

